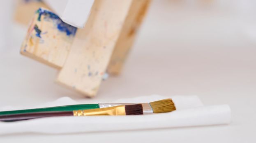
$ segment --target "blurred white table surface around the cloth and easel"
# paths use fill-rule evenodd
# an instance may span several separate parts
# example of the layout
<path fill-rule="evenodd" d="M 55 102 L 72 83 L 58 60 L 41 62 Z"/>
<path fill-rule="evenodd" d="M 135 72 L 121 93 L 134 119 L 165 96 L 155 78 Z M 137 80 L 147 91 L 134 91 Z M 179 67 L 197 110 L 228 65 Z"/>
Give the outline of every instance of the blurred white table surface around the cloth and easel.
<path fill-rule="evenodd" d="M 0 106 L 32 107 L 63 96 L 87 103 L 150 94 L 198 95 L 205 105 L 229 104 L 230 125 L 10 134 L 0 136 L 0 143 L 255 143 L 255 17 L 241 16 L 233 7 L 216 10 L 172 4 L 176 3 L 153 1 L 122 74 L 104 81 L 95 98 L 84 98 L 53 83 L 55 69 L 21 56 L 26 29 L 13 25 L 9 47 L 0 53 Z"/>

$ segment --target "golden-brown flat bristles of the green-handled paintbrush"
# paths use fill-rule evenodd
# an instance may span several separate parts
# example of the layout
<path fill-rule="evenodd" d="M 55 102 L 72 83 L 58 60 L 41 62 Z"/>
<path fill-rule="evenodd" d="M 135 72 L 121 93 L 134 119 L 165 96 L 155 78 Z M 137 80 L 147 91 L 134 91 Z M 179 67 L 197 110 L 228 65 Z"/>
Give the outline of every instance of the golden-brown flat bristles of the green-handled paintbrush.
<path fill-rule="evenodd" d="M 149 103 L 154 113 L 172 112 L 176 107 L 171 98 Z"/>

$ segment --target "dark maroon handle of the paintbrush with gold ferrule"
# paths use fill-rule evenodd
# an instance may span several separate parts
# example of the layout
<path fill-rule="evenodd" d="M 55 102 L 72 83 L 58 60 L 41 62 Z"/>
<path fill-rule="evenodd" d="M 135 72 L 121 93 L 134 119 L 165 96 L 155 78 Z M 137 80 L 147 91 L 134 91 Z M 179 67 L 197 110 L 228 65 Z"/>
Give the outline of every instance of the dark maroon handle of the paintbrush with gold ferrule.
<path fill-rule="evenodd" d="M 44 118 L 44 117 L 54 117 L 54 116 L 73 116 L 72 111 L 67 112 L 37 112 L 37 113 L 26 113 L 26 114 L 11 114 L 0 116 L 0 121 L 13 122 L 29 120 L 33 118 Z"/>

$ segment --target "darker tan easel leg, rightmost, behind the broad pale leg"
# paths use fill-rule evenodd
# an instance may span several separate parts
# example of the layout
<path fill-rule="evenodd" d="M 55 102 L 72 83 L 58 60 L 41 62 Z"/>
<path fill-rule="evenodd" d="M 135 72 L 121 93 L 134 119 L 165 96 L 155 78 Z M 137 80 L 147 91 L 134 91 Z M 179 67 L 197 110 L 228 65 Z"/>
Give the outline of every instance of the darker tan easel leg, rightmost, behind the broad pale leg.
<path fill-rule="evenodd" d="M 107 71 L 109 74 L 120 74 L 122 66 L 136 38 L 136 32 L 143 21 L 149 5 L 150 0 L 136 0 L 131 6 L 132 10 L 125 20 L 125 25 L 122 28 L 122 32 L 108 64 Z"/>

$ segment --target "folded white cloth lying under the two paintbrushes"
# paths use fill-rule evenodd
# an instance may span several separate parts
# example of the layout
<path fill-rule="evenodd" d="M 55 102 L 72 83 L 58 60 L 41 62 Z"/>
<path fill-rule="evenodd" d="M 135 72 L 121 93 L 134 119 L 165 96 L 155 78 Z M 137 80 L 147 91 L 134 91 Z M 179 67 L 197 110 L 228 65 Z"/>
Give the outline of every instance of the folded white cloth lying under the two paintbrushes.
<path fill-rule="evenodd" d="M 161 114 L 134 116 L 51 117 L 28 121 L 0 123 L 0 134 L 37 132 L 46 134 L 140 130 L 170 127 L 228 124 L 231 111 L 228 105 L 203 106 L 198 96 L 141 96 L 120 99 L 115 103 L 145 103 L 172 98 L 176 111 Z M 81 104 L 64 97 L 41 107 Z M 6 108 L 4 108 L 6 110 Z M 0 110 L 3 110 L 0 108 Z"/>

